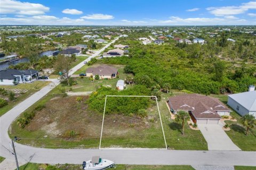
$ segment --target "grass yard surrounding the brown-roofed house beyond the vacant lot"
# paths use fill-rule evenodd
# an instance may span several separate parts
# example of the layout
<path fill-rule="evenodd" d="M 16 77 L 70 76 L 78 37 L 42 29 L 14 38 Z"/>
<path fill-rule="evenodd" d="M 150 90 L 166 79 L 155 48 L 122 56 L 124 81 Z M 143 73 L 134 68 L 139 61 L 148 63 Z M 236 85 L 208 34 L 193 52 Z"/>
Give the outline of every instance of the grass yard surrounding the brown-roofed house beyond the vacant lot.
<path fill-rule="evenodd" d="M 90 67 L 97 67 L 100 65 L 92 65 Z M 112 67 L 115 67 L 116 69 L 118 69 L 118 73 L 119 73 L 119 79 L 124 80 L 127 75 L 130 75 L 132 77 L 131 74 L 125 74 L 124 73 L 124 66 L 123 65 L 109 65 Z M 89 66 L 84 65 L 81 69 L 79 69 L 77 72 L 75 72 L 75 74 L 80 74 L 80 73 L 85 73 L 86 69 Z M 77 81 L 77 85 L 72 86 L 71 88 L 73 89 L 73 92 L 78 92 L 78 91 L 94 91 L 96 90 L 98 87 L 100 86 L 107 86 L 107 87 L 111 87 L 111 88 L 116 88 L 116 83 L 119 79 L 110 79 L 110 80 L 94 80 L 93 82 L 91 82 L 91 80 L 89 80 L 89 78 L 84 77 L 83 79 L 81 78 L 74 78 Z M 70 88 L 70 87 L 66 87 L 66 88 Z"/>

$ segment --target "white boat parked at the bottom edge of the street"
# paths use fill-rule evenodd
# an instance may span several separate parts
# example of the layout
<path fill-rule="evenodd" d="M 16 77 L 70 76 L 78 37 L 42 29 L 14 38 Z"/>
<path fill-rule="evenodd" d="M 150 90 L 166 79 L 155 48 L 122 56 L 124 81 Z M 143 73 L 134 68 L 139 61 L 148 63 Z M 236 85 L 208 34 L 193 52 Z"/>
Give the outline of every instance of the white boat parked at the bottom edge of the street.
<path fill-rule="evenodd" d="M 108 159 L 101 159 L 99 156 L 92 157 L 92 160 L 83 162 L 84 170 L 101 170 L 115 167 L 115 163 Z"/>

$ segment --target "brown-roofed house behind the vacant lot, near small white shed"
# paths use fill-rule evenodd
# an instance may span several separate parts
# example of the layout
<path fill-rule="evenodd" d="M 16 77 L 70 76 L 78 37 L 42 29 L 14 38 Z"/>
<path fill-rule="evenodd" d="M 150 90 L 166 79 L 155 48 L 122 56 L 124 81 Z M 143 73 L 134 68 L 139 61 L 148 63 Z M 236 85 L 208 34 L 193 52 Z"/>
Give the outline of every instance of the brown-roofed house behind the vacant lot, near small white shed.
<path fill-rule="evenodd" d="M 86 70 L 86 77 L 93 77 L 99 75 L 100 79 L 113 79 L 116 78 L 118 70 L 110 66 L 99 66 L 99 67 L 90 67 Z"/>

